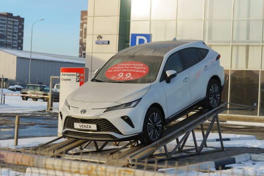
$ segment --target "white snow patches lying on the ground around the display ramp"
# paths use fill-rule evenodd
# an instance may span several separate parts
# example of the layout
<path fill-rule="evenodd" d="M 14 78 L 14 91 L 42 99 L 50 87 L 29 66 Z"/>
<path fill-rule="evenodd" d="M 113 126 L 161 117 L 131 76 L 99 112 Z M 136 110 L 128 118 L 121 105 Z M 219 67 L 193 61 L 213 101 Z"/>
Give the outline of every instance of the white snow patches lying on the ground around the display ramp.
<path fill-rule="evenodd" d="M 10 93 L 10 94 L 19 94 L 20 92 L 13 92 L 7 89 L 4 89 L 3 93 Z M 0 90 L 1 96 L 1 90 Z M 1 97 L 0 97 L 1 98 Z M 3 100 L 4 101 L 4 100 Z M 53 111 L 58 111 L 58 103 L 53 103 Z M 43 102 L 42 100 L 38 100 L 37 102 L 32 101 L 29 99 L 28 101 L 22 101 L 20 96 L 6 96 L 5 97 L 5 105 L 0 104 L 0 113 L 30 113 L 35 111 L 43 111 L 47 109 L 47 102 Z M 229 123 L 229 122 L 227 122 Z M 230 122 L 234 123 L 234 122 Z M 237 122 L 235 122 L 237 124 Z M 252 126 L 263 126 L 260 123 L 243 123 L 239 122 L 240 125 L 252 125 Z M 222 134 L 223 138 L 229 138 L 230 141 L 223 141 L 224 147 L 257 147 L 257 148 L 264 148 L 264 140 L 256 140 L 254 136 L 250 135 L 236 135 L 236 134 Z M 39 145 L 41 143 L 45 143 L 50 141 L 54 137 L 36 137 L 36 138 L 24 138 L 18 140 L 18 146 L 14 146 L 14 140 L 1 140 L 0 141 L 0 148 L 1 147 L 11 147 L 11 148 L 23 148 L 23 147 L 33 147 Z M 196 138 L 198 145 L 201 143 L 203 137 L 200 133 L 196 133 Z M 215 139 L 219 138 L 217 133 L 211 133 L 208 137 L 207 145 L 210 147 L 220 147 L 220 142 L 215 141 Z M 64 140 L 64 139 L 61 139 Z M 192 135 L 188 138 L 188 142 L 193 144 Z M 170 142 L 168 145 L 175 145 L 175 141 Z M 264 175 L 264 161 L 244 161 L 242 163 L 237 164 L 230 164 L 227 165 L 232 167 L 232 169 L 227 170 L 212 170 L 211 173 L 203 173 L 197 171 L 188 171 L 183 172 L 178 175 Z M 18 171 L 14 171 L 9 168 L 0 168 L 0 176 L 7 176 L 7 175 L 72 175 L 67 173 L 58 173 L 54 171 L 47 171 L 43 169 L 27 169 L 27 173 L 21 173 Z"/>

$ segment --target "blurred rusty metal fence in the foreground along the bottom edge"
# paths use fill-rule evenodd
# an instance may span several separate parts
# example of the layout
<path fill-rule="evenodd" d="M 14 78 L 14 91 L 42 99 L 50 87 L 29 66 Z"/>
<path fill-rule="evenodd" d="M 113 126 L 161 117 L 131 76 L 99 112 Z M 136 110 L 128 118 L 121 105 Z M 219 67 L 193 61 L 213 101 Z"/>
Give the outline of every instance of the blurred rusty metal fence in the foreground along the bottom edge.
<path fill-rule="evenodd" d="M 249 160 L 253 158 L 250 154 L 248 156 Z M 48 157 L 28 148 L 2 148 L 0 175 L 264 175 L 263 168 L 262 171 L 261 168 L 248 168 L 244 163 L 244 167 L 239 169 L 227 167 L 224 170 L 216 170 L 213 162 L 192 165 L 180 165 L 175 162 L 171 165 L 169 161 L 160 162 L 155 159 L 149 162 L 146 159 L 143 162 L 134 161 L 128 164 L 124 163 L 123 159 L 120 162 L 102 162 L 102 157 L 105 155 L 98 152 L 83 152 L 78 155 L 63 153 L 60 156 Z"/>

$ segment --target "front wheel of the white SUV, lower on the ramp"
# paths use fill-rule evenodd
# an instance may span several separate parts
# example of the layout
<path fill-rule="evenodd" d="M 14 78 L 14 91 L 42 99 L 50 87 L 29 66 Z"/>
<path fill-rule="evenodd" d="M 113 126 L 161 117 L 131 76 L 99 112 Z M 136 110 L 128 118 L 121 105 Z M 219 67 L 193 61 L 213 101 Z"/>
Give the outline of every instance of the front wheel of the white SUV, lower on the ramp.
<path fill-rule="evenodd" d="M 163 120 L 161 112 L 154 107 L 150 107 L 146 113 L 141 143 L 150 144 L 162 136 Z"/>

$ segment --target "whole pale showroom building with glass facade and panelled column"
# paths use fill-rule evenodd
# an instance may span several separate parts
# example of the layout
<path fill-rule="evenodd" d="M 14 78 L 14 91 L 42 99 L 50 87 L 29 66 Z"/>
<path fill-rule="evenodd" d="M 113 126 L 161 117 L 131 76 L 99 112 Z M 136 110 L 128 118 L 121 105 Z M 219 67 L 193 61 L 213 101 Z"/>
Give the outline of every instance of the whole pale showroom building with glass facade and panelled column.
<path fill-rule="evenodd" d="M 264 117 L 263 0 L 89 0 L 85 67 L 93 72 L 129 47 L 131 34 L 151 41 L 204 40 L 221 54 L 225 68 L 222 101 L 253 105 L 255 111 L 226 111 Z"/>

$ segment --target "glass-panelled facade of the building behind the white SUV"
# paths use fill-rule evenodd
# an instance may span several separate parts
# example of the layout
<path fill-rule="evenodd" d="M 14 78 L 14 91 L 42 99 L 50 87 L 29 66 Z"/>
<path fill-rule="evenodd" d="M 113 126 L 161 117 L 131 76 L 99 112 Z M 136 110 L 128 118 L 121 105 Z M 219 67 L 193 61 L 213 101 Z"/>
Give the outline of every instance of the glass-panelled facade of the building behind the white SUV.
<path fill-rule="evenodd" d="M 130 33 L 152 41 L 198 39 L 221 54 L 222 100 L 255 111 L 224 114 L 264 117 L 264 0 L 131 0 Z"/>

